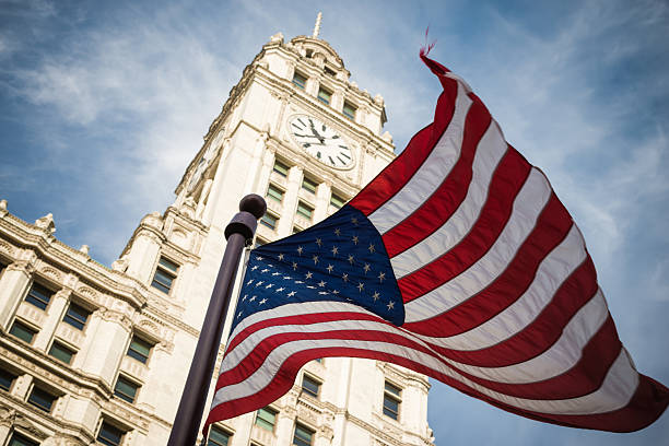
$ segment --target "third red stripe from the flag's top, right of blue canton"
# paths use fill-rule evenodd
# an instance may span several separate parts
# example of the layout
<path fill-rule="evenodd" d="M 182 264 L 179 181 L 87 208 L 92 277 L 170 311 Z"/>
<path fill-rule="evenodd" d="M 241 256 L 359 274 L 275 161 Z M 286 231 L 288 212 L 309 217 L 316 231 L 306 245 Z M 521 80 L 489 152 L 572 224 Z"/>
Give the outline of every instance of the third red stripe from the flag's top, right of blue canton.
<path fill-rule="evenodd" d="M 514 200 L 531 166 L 515 150 L 502 159 L 489 187 L 489 197 L 469 234 L 448 253 L 398 281 L 404 302 L 436 289 L 462 273 L 490 249 L 510 219 Z"/>

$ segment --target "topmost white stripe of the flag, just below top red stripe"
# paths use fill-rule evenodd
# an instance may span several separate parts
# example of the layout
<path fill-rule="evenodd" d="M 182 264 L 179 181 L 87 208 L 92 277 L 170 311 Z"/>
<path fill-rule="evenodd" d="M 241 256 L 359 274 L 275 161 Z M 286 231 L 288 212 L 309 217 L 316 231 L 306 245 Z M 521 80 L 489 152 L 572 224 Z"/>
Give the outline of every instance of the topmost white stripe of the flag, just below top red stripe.
<path fill-rule="evenodd" d="M 460 156 L 462 132 L 467 111 L 472 101 L 458 83 L 458 96 L 448 128 L 432 150 L 421 167 L 414 172 L 407 184 L 387 202 L 372 213 L 368 219 L 380 234 L 414 212 L 442 184 Z"/>

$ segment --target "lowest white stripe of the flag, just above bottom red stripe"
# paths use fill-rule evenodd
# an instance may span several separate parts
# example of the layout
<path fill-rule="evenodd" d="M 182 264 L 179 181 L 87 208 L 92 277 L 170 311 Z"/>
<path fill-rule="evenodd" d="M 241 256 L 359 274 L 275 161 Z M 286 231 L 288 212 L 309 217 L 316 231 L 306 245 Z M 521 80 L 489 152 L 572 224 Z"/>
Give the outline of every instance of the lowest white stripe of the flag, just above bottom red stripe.
<path fill-rule="evenodd" d="M 638 385 L 638 374 L 631 365 L 624 349 L 621 350 L 620 355 L 609 369 L 602 386 L 598 390 L 577 398 L 560 400 L 533 400 L 528 398 L 510 397 L 502 392 L 488 389 L 457 374 L 455 371 L 450 369 L 435 357 L 419 352 L 414 349 L 387 342 L 318 339 L 298 340 L 281 344 L 267 356 L 265 363 L 258 367 L 248 379 L 230 386 L 224 386 L 216 390 L 212 401 L 212 408 L 231 400 L 250 397 L 251 395 L 263 391 L 263 389 L 277 375 L 281 365 L 291 355 L 304 350 L 322 348 L 349 348 L 359 349 L 361 351 L 375 351 L 399 355 L 408 359 L 409 361 L 413 361 L 418 364 L 424 365 L 425 367 L 432 368 L 436 373 L 441 373 L 447 377 L 456 379 L 473 390 L 477 390 L 500 402 L 519 409 L 550 414 L 583 415 L 618 410 L 627 404 Z"/>

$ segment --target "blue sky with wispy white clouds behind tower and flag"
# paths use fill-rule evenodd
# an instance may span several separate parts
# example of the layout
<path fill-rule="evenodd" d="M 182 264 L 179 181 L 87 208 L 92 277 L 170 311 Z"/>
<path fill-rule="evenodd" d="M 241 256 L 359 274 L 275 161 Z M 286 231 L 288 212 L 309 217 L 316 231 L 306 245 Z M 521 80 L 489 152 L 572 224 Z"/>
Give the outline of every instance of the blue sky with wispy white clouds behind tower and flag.
<path fill-rule="evenodd" d="M 639 372 L 669 384 L 669 3 L 666 1 L 0 0 L 0 199 L 109 266 L 164 211 L 212 119 L 269 37 L 328 40 L 386 101 L 400 152 L 463 77 L 583 231 Z M 665 223 L 662 223 L 665 222 Z M 432 382 L 437 445 L 669 444 L 542 424 Z"/>

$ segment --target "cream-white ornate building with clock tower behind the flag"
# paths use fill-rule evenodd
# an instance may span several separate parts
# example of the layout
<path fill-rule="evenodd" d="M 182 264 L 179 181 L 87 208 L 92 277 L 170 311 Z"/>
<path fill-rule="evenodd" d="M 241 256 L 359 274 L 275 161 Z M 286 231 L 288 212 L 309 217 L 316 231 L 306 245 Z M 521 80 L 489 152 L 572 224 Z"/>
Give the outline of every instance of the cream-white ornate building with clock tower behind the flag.
<path fill-rule="evenodd" d="M 394 157 L 383 97 L 349 77 L 317 30 L 272 36 L 174 203 L 142 219 L 111 268 L 59 242 L 50 214 L 31 224 L 0 201 L 1 446 L 166 444 L 239 199 L 266 197 L 267 243 L 336 212 Z M 313 361 L 208 445 L 432 445 L 429 388 L 378 361 Z"/>

